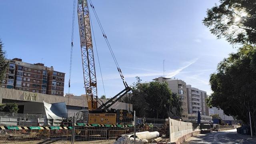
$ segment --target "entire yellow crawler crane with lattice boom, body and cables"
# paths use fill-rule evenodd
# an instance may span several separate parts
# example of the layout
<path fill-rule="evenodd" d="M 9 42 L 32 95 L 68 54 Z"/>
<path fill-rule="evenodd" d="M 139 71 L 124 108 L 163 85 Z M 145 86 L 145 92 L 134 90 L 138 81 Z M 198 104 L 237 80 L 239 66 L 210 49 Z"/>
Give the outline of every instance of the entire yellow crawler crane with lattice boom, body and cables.
<path fill-rule="evenodd" d="M 88 2 L 90 4 L 88 4 Z M 74 1 L 75 6 L 75 1 Z M 92 33 L 91 33 L 91 25 L 90 25 L 90 13 L 89 13 L 89 6 L 92 8 L 92 12 L 96 16 L 97 22 L 100 26 L 102 31 L 104 40 L 106 41 L 114 63 L 117 66 L 117 70 L 120 74 L 122 82 L 124 84 L 124 90 L 110 98 L 106 102 L 102 102 L 98 98 L 97 93 L 97 81 L 96 81 L 96 71 L 95 71 L 95 64 L 94 64 L 94 49 L 92 44 Z M 79 33 L 80 33 L 80 46 L 81 46 L 81 56 L 82 56 L 82 68 L 84 73 L 84 88 L 86 92 L 86 98 L 88 103 L 88 110 L 80 110 L 76 114 L 76 122 L 85 123 L 87 121 L 86 116 L 88 116 L 88 123 L 89 124 L 120 124 L 122 118 L 118 118 L 117 114 L 124 115 L 126 117 L 132 118 L 132 112 L 128 110 L 115 110 L 111 109 L 110 107 L 116 103 L 122 96 L 128 93 L 131 88 L 126 83 L 122 71 L 116 61 L 112 48 L 108 42 L 107 36 L 102 28 L 102 24 L 98 19 L 98 15 L 92 5 L 91 0 L 78 0 L 78 7 L 77 7 L 77 14 L 78 14 L 78 25 L 79 25 Z M 74 25 L 74 8 L 73 8 L 73 25 Z M 72 28 L 73 30 L 74 28 Z M 73 32 L 73 31 L 72 31 Z M 73 37 L 73 35 L 72 35 Z M 73 38 L 72 38 L 73 39 Z M 72 42 L 73 47 L 73 42 Z M 69 88 L 70 88 L 70 81 L 69 81 Z M 100 102 L 101 101 L 101 102 Z M 101 104 L 101 105 L 100 105 Z M 98 106 L 100 105 L 100 106 Z M 89 113 L 89 114 L 88 114 Z M 122 113 L 122 114 L 121 114 Z M 71 121 L 71 120 L 64 120 L 64 121 Z"/>

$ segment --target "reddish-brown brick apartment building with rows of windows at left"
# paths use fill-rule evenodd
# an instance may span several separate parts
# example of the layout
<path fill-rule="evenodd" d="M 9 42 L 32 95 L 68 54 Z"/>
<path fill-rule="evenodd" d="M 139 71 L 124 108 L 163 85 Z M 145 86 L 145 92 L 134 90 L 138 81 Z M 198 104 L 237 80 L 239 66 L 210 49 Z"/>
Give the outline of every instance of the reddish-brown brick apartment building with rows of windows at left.
<path fill-rule="evenodd" d="M 42 94 L 64 95 L 65 73 L 54 71 L 53 67 L 48 68 L 41 63 L 22 62 L 20 58 L 6 61 L 9 66 L 1 87 Z"/>

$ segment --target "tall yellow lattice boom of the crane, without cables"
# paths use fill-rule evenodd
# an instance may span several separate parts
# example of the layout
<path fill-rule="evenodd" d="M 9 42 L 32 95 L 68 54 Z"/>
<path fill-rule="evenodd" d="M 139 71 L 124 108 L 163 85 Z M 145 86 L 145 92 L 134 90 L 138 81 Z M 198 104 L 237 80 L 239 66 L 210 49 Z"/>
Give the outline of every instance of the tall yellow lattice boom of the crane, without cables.
<path fill-rule="evenodd" d="M 84 88 L 86 91 L 88 108 L 89 110 L 95 110 L 98 107 L 97 81 L 87 0 L 78 0 L 77 12 L 84 72 Z"/>

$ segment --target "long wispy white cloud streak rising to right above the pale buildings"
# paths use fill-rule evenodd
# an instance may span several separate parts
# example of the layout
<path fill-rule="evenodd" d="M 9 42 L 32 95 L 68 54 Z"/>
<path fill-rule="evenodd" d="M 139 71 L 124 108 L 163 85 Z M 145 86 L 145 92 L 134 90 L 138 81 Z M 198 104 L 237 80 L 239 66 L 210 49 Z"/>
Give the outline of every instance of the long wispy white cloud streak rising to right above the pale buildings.
<path fill-rule="evenodd" d="M 194 64 L 196 61 L 198 60 L 198 58 L 194 59 L 194 60 L 191 60 L 191 61 L 188 61 L 186 62 L 186 65 L 177 69 L 177 70 L 174 70 L 172 72 L 166 72 L 166 77 L 168 78 L 171 78 L 173 76 L 176 76 L 177 74 L 179 74 L 182 70 L 184 70 L 185 68 L 187 68 L 188 66 L 190 66 L 191 64 Z M 134 78 L 136 76 L 140 76 L 140 77 L 146 77 L 146 76 L 161 76 L 163 75 L 163 72 L 149 72 L 149 73 L 135 73 L 135 74 L 124 74 L 124 77 L 125 78 Z M 112 80 L 112 79 L 117 79 L 117 78 L 120 78 L 119 76 L 117 75 L 109 75 L 109 76 L 106 76 L 106 78 L 104 78 L 104 80 Z"/>

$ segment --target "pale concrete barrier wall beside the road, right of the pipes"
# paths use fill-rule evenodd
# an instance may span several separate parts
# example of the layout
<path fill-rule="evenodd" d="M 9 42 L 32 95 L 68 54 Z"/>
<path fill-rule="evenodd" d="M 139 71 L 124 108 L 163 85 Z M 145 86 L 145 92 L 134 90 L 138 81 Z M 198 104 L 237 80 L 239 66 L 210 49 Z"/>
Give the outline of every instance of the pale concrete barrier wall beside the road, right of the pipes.
<path fill-rule="evenodd" d="M 173 120 L 169 118 L 169 131 L 170 131 L 170 142 L 176 142 L 180 137 L 192 133 L 194 131 L 199 131 L 196 126 L 191 122 L 182 122 L 178 120 Z"/>

